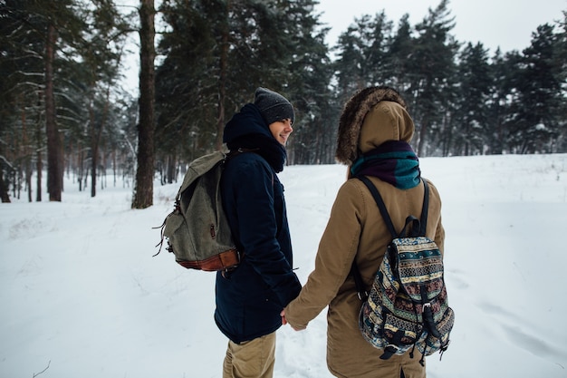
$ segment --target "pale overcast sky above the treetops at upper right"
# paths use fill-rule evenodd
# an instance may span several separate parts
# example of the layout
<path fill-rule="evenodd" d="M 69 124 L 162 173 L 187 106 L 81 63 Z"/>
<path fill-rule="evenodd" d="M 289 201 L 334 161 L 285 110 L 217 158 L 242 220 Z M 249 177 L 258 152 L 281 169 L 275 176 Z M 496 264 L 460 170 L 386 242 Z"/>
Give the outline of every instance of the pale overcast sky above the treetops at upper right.
<path fill-rule="evenodd" d="M 334 45 L 354 18 L 376 15 L 384 10 L 389 21 L 398 25 L 404 14 L 409 23 L 418 24 L 435 9 L 440 0 L 319 0 L 316 12 L 320 21 L 331 26 L 327 42 Z M 494 53 L 500 46 L 503 53 L 522 51 L 532 41 L 532 33 L 541 24 L 554 24 L 567 11 L 567 0 L 449 0 L 448 8 L 455 17 L 452 34 L 459 42 L 481 42 Z"/>

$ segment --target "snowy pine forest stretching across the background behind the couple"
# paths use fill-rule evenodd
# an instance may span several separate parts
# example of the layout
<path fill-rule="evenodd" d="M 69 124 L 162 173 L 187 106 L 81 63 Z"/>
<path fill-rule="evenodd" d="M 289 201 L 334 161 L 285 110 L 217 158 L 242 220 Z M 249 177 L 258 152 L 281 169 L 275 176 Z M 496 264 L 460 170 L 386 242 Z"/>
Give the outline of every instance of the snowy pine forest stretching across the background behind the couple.
<path fill-rule="evenodd" d="M 288 164 L 334 162 L 341 108 L 370 85 L 402 93 L 420 157 L 567 151 L 567 11 L 523 51 L 490 52 L 456 40 L 447 0 L 418 24 L 360 15 L 333 46 L 316 4 L 0 0 L 2 201 L 41 201 L 43 179 L 61 201 L 70 175 L 92 197 L 131 183 L 132 208 L 147 208 L 156 177 L 222 148 L 257 86 L 293 102 Z M 138 98 L 120 87 L 132 34 Z"/>

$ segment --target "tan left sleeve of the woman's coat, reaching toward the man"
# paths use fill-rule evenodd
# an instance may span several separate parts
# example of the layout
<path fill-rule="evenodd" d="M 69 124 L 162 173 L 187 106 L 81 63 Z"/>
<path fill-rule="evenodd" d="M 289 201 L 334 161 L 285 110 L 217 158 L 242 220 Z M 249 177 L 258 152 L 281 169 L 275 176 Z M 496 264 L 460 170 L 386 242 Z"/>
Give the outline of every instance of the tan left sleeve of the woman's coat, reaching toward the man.
<path fill-rule="evenodd" d="M 315 257 L 315 268 L 300 295 L 285 307 L 285 318 L 293 328 L 305 328 L 337 296 L 359 247 L 365 208 L 360 188 L 345 182 L 332 206 Z"/>

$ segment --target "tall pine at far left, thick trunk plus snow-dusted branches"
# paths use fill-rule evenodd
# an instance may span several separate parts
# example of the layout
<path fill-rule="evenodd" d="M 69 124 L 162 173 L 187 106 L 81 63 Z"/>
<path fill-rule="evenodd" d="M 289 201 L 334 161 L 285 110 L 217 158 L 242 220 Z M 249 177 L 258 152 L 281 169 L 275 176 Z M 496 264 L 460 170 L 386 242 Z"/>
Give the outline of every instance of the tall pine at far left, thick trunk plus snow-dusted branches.
<path fill-rule="evenodd" d="M 41 113 L 46 135 L 49 199 L 61 201 L 63 136 L 56 107 L 60 82 L 58 69 L 72 59 L 73 45 L 82 31 L 82 20 L 77 16 L 78 7 L 72 0 L 5 1 L 1 6 L 5 11 L 1 23 L 5 31 L 10 32 L 3 34 L 8 36 L 5 42 L 6 52 L 9 52 L 3 55 L 3 66 L 10 66 L 11 73 L 11 80 L 6 83 L 17 93 L 8 104 L 18 103 L 23 116 L 27 115 L 27 109 Z M 40 107 L 43 107 L 41 111 Z M 38 175 L 38 181 L 40 179 Z M 38 199 L 39 196 L 38 191 Z"/>

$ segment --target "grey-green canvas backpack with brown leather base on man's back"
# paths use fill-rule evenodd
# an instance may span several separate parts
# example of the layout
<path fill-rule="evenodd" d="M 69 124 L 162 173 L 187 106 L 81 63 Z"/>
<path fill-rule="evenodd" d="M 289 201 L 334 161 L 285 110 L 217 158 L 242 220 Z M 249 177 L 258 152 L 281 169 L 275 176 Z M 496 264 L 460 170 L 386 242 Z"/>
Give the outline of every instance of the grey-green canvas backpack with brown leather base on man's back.
<path fill-rule="evenodd" d="M 228 157 L 216 151 L 189 164 L 175 208 L 160 226 L 156 255 L 166 238 L 166 249 L 187 269 L 224 271 L 238 265 L 240 256 L 220 196 L 220 179 Z"/>

